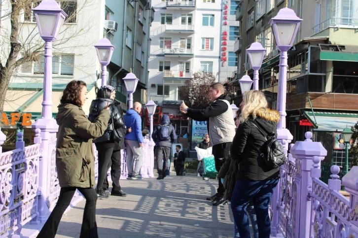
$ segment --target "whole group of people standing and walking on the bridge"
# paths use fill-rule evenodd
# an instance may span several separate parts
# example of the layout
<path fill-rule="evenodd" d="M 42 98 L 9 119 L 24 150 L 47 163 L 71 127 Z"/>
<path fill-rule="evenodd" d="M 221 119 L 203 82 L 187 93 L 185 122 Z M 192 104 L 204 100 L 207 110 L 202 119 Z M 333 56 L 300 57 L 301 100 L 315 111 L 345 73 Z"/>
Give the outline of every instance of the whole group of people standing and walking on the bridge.
<path fill-rule="evenodd" d="M 96 224 L 97 199 L 127 194 L 121 189 L 120 150 L 126 146 L 128 179 L 141 179 L 143 135 L 140 112 L 142 104 L 135 102 L 123 116 L 120 103 L 115 102 L 115 89 L 103 86 L 93 100 L 88 117 L 82 110 L 87 98 L 85 82 L 73 80 L 64 90 L 56 117 L 59 125 L 56 145 L 56 167 L 61 187 L 57 204 L 41 229 L 38 238 L 54 238 L 63 213 L 78 191 L 86 204 L 80 238 L 98 238 Z M 263 93 L 249 91 L 243 96 L 236 118 L 221 83 L 210 86 L 212 103 L 204 109 L 188 108 L 184 102 L 180 111 L 197 121 L 208 121 L 208 134 L 200 148 L 212 147 L 215 169 L 218 171 L 216 193 L 207 198 L 213 205 L 231 202 L 235 237 L 250 238 L 249 219 L 254 237 L 270 237 L 268 204 L 278 184 L 279 168 L 264 162 L 261 149 L 267 135 L 276 133 L 280 114 L 267 106 Z M 157 159 L 157 179 L 166 177 L 172 144 L 177 135 L 169 116 L 164 115 L 154 128 Z M 95 187 L 94 149 L 98 150 L 98 181 Z M 183 175 L 186 154 L 176 146 L 174 166 Z M 112 190 L 109 193 L 107 171 L 110 170 Z"/>

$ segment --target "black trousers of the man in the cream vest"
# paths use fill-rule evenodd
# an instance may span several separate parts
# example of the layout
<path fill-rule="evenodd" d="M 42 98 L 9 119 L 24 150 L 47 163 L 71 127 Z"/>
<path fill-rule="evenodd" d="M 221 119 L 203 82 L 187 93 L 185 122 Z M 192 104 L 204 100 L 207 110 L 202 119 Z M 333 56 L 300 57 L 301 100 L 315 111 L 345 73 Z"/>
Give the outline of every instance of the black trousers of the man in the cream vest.
<path fill-rule="evenodd" d="M 220 171 L 221 166 L 225 163 L 225 160 L 229 157 L 231 142 L 216 144 L 213 146 L 213 155 L 215 158 L 215 169 L 217 172 Z M 221 196 L 224 196 L 225 188 L 219 179 L 219 187 L 217 188 L 217 193 Z"/>

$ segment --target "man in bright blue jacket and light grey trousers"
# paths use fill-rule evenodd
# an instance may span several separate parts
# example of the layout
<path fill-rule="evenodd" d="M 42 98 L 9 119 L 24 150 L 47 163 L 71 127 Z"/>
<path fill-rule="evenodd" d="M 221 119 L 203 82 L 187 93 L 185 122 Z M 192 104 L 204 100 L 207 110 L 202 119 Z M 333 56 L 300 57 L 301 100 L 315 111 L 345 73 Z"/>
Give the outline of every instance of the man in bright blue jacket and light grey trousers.
<path fill-rule="evenodd" d="M 139 174 L 143 162 L 142 147 L 144 145 L 142 135 L 142 118 L 139 115 L 141 110 L 142 104 L 140 102 L 134 102 L 133 108 L 129 109 L 124 115 L 124 123 L 127 128 L 124 140 L 127 153 L 127 179 L 144 179 L 141 174 Z"/>

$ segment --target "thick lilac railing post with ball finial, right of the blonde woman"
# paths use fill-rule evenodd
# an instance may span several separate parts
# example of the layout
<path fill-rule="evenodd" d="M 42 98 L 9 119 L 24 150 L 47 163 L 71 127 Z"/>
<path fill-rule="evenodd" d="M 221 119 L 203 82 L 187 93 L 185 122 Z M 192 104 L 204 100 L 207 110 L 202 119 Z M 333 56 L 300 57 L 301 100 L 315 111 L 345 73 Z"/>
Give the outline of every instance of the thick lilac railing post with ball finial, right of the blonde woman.
<path fill-rule="evenodd" d="M 311 225 L 311 198 L 309 196 L 312 187 L 311 169 L 314 164 L 314 168 L 320 168 L 321 162 L 315 163 L 317 162 L 317 157 L 322 161 L 324 156 L 327 155 L 327 151 L 321 142 L 311 140 L 311 132 L 306 132 L 305 137 L 305 141 L 297 141 L 290 151 L 296 160 L 296 174 L 292 184 L 293 202 L 291 203 L 296 205 L 295 207 L 290 207 L 290 210 L 291 214 L 294 214 L 291 216 L 292 232 L 296 234 L 297 238 L 309 237 Z"/>

